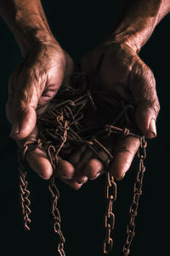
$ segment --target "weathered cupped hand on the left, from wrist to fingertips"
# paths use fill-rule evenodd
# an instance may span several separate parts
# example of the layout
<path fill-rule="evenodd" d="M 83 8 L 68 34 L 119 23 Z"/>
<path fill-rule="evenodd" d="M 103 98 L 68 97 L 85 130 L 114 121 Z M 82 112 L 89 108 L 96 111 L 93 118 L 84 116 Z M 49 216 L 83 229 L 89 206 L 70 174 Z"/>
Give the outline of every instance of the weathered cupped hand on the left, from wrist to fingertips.
<path fill-rule="evenodd" d="M 10 136 L 19 147 L 37 137 L 37 115 L 47 108 L 60 85 L 68 83 L 72 70 L 71 57 L 54 39 L 34 46 L 14 69 L 9 79 L 6 112 L 12 125 Z M 27 153 L 26 160 L 41 177 L 48 179 L 52 175 L 52 166 L 41 149 Z M 61 160 L 60 166 L 63 175 L 71 169 L 66 161 Z"/>

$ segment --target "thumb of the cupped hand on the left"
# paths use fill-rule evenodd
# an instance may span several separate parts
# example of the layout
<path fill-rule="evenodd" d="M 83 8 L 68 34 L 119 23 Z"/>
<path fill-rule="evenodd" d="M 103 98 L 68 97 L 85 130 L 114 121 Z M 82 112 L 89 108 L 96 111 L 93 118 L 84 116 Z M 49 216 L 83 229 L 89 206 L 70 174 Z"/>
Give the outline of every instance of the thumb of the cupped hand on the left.
<path fill-rule="evenodd" d="M 22 140 L 29 136 L 37 122 L 37 102 L 40 91 L 39 84 L 31 75 L 15 73 L 10 77 L 8 84 L 8 102 L 6 113 L 12 125 L 10 137 Z"/>

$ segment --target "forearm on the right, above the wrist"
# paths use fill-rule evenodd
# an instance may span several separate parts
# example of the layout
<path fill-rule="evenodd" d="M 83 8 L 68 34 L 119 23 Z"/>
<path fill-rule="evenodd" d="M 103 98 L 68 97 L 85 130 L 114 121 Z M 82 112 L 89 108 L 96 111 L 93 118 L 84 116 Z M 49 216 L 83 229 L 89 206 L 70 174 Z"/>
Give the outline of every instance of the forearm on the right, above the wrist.
<path fill-rule="evenodd" d="M 170 0 L 127 0 L 111 41 L 127 44 L 138 53 L 169 11 Z"/>

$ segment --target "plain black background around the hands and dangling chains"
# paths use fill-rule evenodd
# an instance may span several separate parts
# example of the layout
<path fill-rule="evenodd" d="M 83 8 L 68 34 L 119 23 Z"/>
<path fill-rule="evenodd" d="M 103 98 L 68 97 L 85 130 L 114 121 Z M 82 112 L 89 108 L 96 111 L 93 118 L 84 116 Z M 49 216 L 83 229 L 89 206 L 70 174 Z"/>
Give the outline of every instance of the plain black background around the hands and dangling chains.
<path fill-rule="evenodd" d="M 123 1 L 42 1 L 55 37 L 75 61 L 93 49 L 110 30 Z M 74 3 L 74 4 L 73 4 Z M 136 237 L 131 256 L 167 254 L 169 205 L 169 16 L 156 26 L 149 42 L 140 52 L 143 61 L 156 76 L 156 88 L 161 103 L 157 120 L 157 137 L 148 144 L 147 171 L 143 195 L 136 219 Z M 20 50 L 3 20 L 0 21 L 0 253 L 9 255 L 57 255 L 54 232 L 50 226 L 48 183 L 30 172 L 31 231 L 21 225 L 18 190 L 17 147 L 8 137 L 10 125 L 5 117 L 8 96 L 8 76 L 21 60 Z M 135 167 L 135 166 L 134 166 Z M 134 179 L 133 168 L 118 183 L 114 252 L 121 256 L 122 242 L 128 220 L 128 204 Z M 59 209 L 65 234 L 66 255 L 101 255 L 104 238 L 102 217 L 104 178 L 85 184 L 74 191 L 61 182 Z M 167 233 L 166 233 L 167 232 Z"/>

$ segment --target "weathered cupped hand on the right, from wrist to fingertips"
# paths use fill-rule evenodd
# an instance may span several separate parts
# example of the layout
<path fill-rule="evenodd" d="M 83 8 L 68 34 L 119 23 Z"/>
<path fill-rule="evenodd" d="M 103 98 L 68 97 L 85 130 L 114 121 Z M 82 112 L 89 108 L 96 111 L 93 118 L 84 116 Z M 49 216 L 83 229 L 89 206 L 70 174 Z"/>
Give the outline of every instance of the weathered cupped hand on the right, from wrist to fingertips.
<path fill-rule="evenodd" d="M 105 57 L 93 89 L 100 90 L 101 93 L 102 90 L 108 92 L 108 95 L 118 93 L 126 102 L 133 102 L 139 131 L 145 137 L 156 137 L 156 117 L 160 106 L 156 96 L 156 81 L 150 67 L 147 67 L 135 51 L 125 44 L 103 44 L 82 59 L 82 71 L 88 73 L 89 77 L 94 74 L 104 50 Z M 123 137 L 116 145 L 114 143 L 108 140 L 105 144 L 114 153 L 114 161 L 109 171 L 120 180 L 131 166 L 139 148 L 139 139 Z M 94 179 L 99 176 L 98 173 L 104 172 L 102 163 L 95 159 L 89 149 L 82 150 L 82 153 L 77 152 L 70 160 L 75 164 L 77 180 L 82 177 Z"/>

